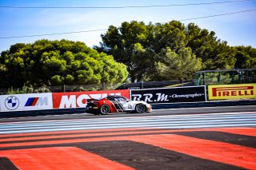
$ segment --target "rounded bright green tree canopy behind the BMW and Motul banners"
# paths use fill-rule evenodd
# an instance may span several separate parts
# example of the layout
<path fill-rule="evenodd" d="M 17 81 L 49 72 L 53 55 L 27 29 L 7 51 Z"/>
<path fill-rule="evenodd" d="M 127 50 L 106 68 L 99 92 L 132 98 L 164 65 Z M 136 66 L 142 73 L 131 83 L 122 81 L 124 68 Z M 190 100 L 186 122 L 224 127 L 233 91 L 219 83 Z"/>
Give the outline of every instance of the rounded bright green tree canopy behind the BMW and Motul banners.
<path fill-rule="evenodd" d="M 0 85 L 87 85 L 126 80 L 126 65 L 83 42 L 40 40 L 18 43 L 0 57 Z"/>

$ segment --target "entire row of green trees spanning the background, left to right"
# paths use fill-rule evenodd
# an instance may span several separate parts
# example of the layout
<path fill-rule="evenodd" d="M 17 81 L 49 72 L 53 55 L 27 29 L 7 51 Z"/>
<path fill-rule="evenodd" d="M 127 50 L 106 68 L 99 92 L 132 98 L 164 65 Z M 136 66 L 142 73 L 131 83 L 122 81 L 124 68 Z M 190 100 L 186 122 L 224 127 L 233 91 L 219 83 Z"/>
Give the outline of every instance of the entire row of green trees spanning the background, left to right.
<path fill-rule="evenodd" d="M 113 57 L 112 57 L 113 56 Z M 256 49 L 227 45 L 214 31 L 171 21 L 110 26 L 94 49 L 83 42 L 18 43 L 0 56 L 0 88 L 190 79 L 206 69 L 255 69 Z"/>

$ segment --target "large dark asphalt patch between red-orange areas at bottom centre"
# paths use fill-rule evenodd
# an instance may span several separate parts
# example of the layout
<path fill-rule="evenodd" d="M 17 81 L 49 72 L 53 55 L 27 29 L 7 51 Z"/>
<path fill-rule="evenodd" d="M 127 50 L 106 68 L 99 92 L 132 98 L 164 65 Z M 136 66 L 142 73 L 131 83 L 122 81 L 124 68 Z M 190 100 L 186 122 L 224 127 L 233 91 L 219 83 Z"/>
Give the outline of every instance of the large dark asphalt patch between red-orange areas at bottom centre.
<path fill-rule="evenodd" d="M 76 147 L 136 169 L 243 169 L 128 140 L 87 142 Z"/>

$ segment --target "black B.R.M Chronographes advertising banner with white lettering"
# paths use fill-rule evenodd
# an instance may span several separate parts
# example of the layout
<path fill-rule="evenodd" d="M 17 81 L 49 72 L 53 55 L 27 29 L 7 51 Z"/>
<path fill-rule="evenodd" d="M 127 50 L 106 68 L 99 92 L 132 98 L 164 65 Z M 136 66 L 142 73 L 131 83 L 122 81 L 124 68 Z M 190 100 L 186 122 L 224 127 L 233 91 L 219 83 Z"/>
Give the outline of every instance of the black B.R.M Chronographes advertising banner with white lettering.
<path fill-rule="evenodd" d="M 206 101 L 206 86 L 132 89 L 130 96 L 134 101 L 146 101 L 149 104 Z"/>

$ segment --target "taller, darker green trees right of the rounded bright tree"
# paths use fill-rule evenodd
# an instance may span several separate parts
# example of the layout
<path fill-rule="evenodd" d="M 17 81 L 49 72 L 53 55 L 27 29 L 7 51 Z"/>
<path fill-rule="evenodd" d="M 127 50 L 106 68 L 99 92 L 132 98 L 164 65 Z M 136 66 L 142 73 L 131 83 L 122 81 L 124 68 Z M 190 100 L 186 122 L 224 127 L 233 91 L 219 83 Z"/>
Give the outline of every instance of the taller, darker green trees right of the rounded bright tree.
<path fill-rule="evenodd" d="M 194 23 L 123 22 L 102 34 L 100 52 L 127 66 L 131 81 L 190 78 L 202 69 L 255 68 L 255 49 L 230 47 Z"/>

